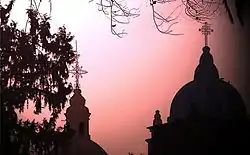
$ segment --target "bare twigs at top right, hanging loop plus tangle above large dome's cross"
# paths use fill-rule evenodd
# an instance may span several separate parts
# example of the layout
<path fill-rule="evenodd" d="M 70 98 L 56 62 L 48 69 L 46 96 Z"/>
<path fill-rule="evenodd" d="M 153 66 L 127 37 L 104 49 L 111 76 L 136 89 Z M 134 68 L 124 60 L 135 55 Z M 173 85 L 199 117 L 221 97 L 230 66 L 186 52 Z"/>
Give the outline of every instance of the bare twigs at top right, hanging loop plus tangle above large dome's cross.
<path fill-rule="evenodd" d="M 184 6 L 185 14 L 201 23 L 211 20 L 218 14 L 219 8 L 223 5 L 224 0 L 181 0 L 182 4 L 178 5 L 168 16 L 164 17 L 156 11 L 157 4 L 170 4 L 176 0 L 150 0 L 152 7 L 153 21 L 160 33 L 169 35 L 181 35 L 173 33 L 172 27 L 178 23 L 180 14 L 175 15 L 176 11 Z M 163 28 L 165 26 L 165 29 Z M 167 28 L 166 28 L 167 27 Z"/>

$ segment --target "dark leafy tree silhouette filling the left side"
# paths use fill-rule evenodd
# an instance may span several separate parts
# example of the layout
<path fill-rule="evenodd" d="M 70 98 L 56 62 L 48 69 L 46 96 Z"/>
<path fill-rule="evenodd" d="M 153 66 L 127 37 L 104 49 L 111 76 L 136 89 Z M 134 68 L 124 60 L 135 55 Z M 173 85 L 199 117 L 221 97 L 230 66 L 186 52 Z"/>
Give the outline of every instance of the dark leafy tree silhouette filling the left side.
<path fill-rule="evenodd" d="M 68 67 L 76 57 L 70 44 L 73 36 L 65 27 L 52 34 L 50 18 L 34 9 L 27 10 L 29 31 L 17 29 L 17 23 L 9 19 L 13 5 L 14 0 L 0 5 L 1 154 L 24 155 L 30 149 L 43 155 L 56 153 L 58 141 L 65 135 L 62 131 L 69 131 L 67 125 L 64 130 L 56 129 L 55 123 L 72 91 L 67 79 Z M 23 112 L 29 102 L 35 104 L 36 114 L 48 107 L 50 120 L 18 120 L 16 110 Z M 71 135 L 66 133 L 66 137 Z"/>

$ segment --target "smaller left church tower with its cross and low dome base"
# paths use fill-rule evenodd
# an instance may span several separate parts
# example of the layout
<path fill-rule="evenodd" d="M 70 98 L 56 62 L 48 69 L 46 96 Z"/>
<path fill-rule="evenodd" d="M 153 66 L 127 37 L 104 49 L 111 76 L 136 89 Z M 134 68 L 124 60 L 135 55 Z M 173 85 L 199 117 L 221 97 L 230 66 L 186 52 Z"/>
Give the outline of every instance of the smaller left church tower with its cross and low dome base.
<path fill-rule="evenodd" d="M 89 133 L 89 120 L 91 113 L 85 106 L 86 99 L 81 94 L 79 78 L 88 73 L 79 66 L 79 55 L 76 57 L 76 64 L 70 72 L 75 76 L 74 94 L 70 98 L 70 106 L 65 116 L 70 129 L 74 135 L 69 139 L 69 145 L 62 148 L 60 155 L 107 155 L 97 143 L 91 140 Z"/>

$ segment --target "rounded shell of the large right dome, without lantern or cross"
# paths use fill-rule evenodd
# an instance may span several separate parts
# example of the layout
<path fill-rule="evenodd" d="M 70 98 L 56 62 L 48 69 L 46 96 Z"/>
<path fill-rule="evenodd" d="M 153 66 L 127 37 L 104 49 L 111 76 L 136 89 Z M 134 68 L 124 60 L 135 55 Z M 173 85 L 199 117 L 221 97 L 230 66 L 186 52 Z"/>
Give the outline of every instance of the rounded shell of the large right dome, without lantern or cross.
<path fill-rule="evenodd" d="M 201 85 L 192 81 L 175 95 L 170 109 L 171 120 L 190 118 L 235 119 L 246 115 L 238 91 L 223 80 Z"/>

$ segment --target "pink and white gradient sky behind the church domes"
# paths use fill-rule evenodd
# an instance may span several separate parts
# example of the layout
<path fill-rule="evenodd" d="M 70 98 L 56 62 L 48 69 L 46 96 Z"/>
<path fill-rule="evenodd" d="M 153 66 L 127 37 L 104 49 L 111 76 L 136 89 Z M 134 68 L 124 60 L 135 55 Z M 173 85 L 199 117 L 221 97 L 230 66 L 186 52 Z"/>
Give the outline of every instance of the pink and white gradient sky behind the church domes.
<path fill-rule="evenodd" d="M 198 31 L 201 25 L 182 16 L 175 32 L 184 35 L 160 34 L 154 27 L 149 1 L 130 0 L 130 5 L 141 6 L 141 16 L 124 26 L 128 35 L 120 39 L 110 33 L 110 21 L 97 11 L 97 1 L 52 2 L 52 30 L 55 32 L 65 24 L 75 35 L 80 64 L 89 72 L 80 82 L 91 112 L 92 139 L 109 155 L 126 155 L 129 151 L 146 154 L 145 139 L 150 136 L 146 127 L 152 125 L 155 110 L 161 111 L 165 122 L 175 93 L 193 79 L 204 45 L 204 37 Z M 16 0 L 12 12 L 11 18 L 21 28 L 27 19 L 28 6 L 28 0 Z M 41 10 L 49 11 L 47 1 L 42 3 Z M 209 45 L 220 76 L 249 101 L 243 88 L 242 52 L 238 52 L 240 46 L 247 45 L 241 39 L 246 31 L 238 24 L 231 25 L 223 12 L 211 23 L 214 32 L 209 37 Z M 48 110 L 40 116 L 34 115 L 30 106 L 22 118 L 39 121 L 48 115 Z M 63 119 L 61 116 L 58 123 L 62 125 Z"/>

